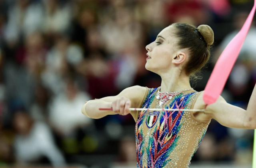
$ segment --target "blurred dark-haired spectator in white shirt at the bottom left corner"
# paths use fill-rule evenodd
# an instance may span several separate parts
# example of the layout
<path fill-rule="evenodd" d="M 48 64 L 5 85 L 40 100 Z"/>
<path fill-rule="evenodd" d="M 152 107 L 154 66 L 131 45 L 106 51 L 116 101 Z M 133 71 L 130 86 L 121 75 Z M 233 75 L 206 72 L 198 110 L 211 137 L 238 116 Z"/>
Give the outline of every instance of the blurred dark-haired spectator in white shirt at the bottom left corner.
<path fill-rule="evenodd" d="M 14 150 L 18 164 L 42 164 L 40 159 L 46 157 L 55 167 L 65 165 L 46 124 L 34 122 L 26 112 L 19 111 L 14 115 L 13 125 L 17 132 Z"/>

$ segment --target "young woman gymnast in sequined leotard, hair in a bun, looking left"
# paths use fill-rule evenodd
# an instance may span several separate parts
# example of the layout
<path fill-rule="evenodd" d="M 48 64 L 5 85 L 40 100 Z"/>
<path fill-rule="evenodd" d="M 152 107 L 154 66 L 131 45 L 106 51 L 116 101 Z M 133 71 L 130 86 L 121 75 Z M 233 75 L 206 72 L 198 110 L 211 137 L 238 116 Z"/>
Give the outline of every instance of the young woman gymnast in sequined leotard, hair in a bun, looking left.
<path fill-rule="evenodd" d="M 190 86 L 189 78 L 210 57 L 214 33 L 210 26 L 198 28 L 174 23 L 146 46 L 146 69 L 160 75 L 161 86 L 132 86 L 117 96 L 90 100 L 82 113 L 90 118 L 131 114 L 136 121 L 138 168 L 188 168 L 212 118 L 232 128 L 256 129 L 256 90 L 247 110 L 228 104 L 221 96 L 206 107 L 203 92 Z M 129 111 L 129 108 L 205 109 L 205 111 Z M 98 108 L 112 108 L 100 111 Z"/>

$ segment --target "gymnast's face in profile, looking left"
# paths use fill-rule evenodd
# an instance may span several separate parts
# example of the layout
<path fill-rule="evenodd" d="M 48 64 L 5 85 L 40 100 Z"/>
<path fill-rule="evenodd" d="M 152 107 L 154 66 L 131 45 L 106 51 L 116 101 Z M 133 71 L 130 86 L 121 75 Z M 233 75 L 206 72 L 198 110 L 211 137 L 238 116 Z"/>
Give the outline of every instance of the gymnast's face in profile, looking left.
<path fill-rule="evenodd" d="M 175 28 L 168 26 L 156 37 L 156 40 L 146 46 L 148 51 L 145 68 L 157 74 L 169 71 L 172 60 L 179 53 L 177 38 L 174 36 Z"/>

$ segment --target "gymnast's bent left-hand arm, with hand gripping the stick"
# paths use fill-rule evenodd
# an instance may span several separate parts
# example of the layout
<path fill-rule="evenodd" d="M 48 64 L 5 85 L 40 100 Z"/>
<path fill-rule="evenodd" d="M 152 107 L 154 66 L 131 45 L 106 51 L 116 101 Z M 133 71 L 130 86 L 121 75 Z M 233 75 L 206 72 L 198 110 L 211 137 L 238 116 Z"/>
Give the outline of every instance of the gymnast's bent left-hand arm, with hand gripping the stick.
<path fill-rule="evenodd" d="M 82 113 L 94 119 L 113 114 L 127 115 L 130 113 L 129 108 L 137 107 L 143 101 L 146 90 L 142 86 L 131 86 L 116 96 L 90 100 L 82 107 Z M 99 108 L 113 108 L 113 111 Z"/>

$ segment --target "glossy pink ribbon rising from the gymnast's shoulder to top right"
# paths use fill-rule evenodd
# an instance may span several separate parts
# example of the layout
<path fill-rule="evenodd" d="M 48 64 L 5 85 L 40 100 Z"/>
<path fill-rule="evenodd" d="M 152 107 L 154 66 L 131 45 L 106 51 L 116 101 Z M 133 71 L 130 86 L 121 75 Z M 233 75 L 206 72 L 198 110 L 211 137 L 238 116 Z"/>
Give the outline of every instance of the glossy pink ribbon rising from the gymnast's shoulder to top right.
<path fill-rule="evenodd" d="M 216 62 L 216 65 L 204 90 L 203 99 L 207 105 L 216 102 L 224 88 L 224 85 L 226 84 L 228 76 L 236 62 L 238 54 L 242 48 L 242 44 L 244 43 L 246 35 L 251 26 L 252 18 L 255 13 L 255 8 L 256 0 L 254 0 L 254 6 L 248 18 L 246 19 L 244 26 L 238 32 L 238 34 L 236 34 L 236 36 L 229 42 L 228 46 L 226 46 L 226 48 L 220 55 L 220 58 Z"/>

